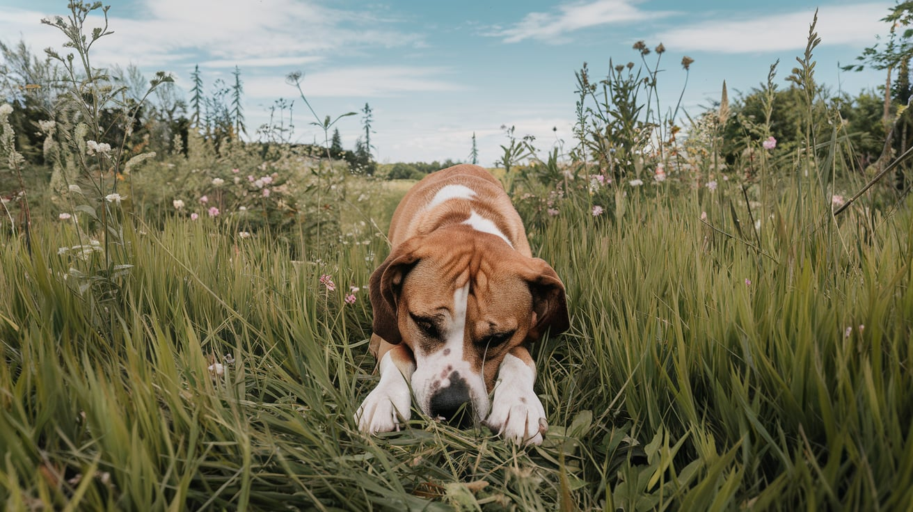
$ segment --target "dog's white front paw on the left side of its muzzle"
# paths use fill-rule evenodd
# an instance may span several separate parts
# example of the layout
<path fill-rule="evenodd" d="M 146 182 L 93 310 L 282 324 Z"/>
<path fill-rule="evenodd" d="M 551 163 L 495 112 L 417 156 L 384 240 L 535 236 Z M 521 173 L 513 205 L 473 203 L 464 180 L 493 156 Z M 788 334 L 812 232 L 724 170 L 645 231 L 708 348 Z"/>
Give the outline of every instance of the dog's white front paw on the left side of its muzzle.
<path fill-rule="evenodd" d="M 412 394 L 403 376 L 384 375 L 358 408 L 355 423 L 365 434 L 398 431 L 400 422 L 409 420 L 411 405 Z"/>

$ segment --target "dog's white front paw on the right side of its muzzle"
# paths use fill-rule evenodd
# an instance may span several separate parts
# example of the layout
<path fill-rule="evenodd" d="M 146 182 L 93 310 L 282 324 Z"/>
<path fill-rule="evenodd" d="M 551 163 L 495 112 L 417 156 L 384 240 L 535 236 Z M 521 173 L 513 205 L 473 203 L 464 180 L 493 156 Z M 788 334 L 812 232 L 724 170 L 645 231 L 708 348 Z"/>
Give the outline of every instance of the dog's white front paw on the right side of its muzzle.
<path fill-rule="evenodd" d="M 549 429 L 545 409 L 532 385 L 536 374 L 522 360 L 508 354 L 498 371 L 488 427 L 517 444 L 542 444 Z"/>

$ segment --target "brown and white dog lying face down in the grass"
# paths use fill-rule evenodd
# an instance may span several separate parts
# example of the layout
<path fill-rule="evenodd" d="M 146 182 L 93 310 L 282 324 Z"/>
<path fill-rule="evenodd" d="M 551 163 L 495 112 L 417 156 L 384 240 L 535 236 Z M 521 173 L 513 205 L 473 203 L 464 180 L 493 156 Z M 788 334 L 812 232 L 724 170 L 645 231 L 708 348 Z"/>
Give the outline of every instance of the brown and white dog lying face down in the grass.
<path fill-rule="evenodd" d="M 381 381 L 355 413 L 359 428 L 399 430 L 411 383 L 432 418 L 540 444 L 548 423 L 527 346 L 568 329 L 567 305 L 504 188 L 475 165 L 429 174 L 396 208 L 390 242 L 370 285 Z"/>

